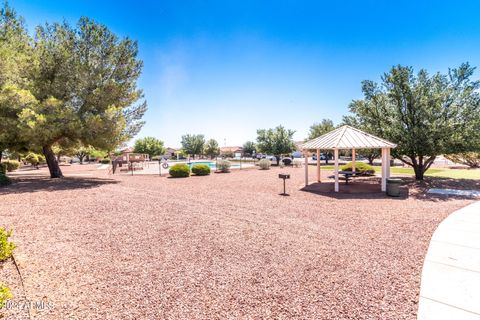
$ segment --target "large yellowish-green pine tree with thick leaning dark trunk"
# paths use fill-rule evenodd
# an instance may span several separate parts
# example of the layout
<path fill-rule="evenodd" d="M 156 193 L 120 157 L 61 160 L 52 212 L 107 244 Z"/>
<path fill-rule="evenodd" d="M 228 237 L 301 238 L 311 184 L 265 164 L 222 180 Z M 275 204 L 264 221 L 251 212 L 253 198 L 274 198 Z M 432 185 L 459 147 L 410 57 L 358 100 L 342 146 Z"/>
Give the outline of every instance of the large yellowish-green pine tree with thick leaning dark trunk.
<path fill-rule="evenodd" d="M 12 19 L 12 14 L 2 16 Z M 9 78 L 17 80 L 0 83 L 0 104 L 12 120 L 10 129 L 21 139 L 5 139 L 1 127 L 0 143 L 20 141 L 29 149 L 41 148 L 51 177 L 57 178 L 63 176 L 53 152 L 59 141 L 112 150 L 140 130 L 146 102 L 137 88 L 142 62 L 135 41 L 119 39 L 88 18 L 81 18 L 76 27 L 39 26 L 33 39 L 16 34 L 27 37 L 26 49 L 9 50 L 26 52 L 21 62 L 28 68 L 10 68 L 17 76 Z M 8 108 L 3 109 L 6 102 Z"/>

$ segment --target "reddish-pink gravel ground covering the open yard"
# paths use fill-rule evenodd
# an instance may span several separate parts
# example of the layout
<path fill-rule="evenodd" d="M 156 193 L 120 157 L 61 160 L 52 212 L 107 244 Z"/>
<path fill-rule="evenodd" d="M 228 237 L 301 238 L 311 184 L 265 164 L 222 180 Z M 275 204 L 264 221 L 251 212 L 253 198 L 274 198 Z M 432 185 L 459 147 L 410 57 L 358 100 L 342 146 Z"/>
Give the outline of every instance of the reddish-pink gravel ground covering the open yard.
<path fill-rule="evenodd" d="M 472 201 L 306 192 L 301 168 L 74 171 L 0 189 L 25 290 L 10 262 L 0 282 L 50 303 L 36 319 L 415 319 L 430 237 Z"/>

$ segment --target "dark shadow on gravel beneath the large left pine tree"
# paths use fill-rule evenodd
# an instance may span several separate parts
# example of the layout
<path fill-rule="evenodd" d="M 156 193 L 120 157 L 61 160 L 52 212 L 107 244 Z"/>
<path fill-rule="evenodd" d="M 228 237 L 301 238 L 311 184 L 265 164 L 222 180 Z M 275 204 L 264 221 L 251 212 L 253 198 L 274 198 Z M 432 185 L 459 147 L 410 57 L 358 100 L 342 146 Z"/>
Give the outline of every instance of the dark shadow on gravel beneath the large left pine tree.
<path fill-rule="evenodd" d="M 99 178 L 63 178 L 46 177 L 12 178 L 8 186 L 0 187 L 0 195 L 20 194 L 39 191 L 61 191 L 75 189 L 92 189 L 107 184 L 117 184 L 119 181 Z"/>

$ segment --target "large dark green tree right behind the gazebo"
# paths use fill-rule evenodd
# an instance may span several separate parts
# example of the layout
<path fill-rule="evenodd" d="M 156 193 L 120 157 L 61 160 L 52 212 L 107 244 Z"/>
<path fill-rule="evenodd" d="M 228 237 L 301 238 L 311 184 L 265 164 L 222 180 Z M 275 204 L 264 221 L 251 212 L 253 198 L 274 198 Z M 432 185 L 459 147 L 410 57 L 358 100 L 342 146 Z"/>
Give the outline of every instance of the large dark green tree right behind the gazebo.
<path fill-rule="evenodd" d="M 478 148 L 480 82 L 473 72 L 469 64 L 433 75 L 396 66 L 381 84 L 363 81 L 364 99 L 349 108 L 371 133 L 396 143 L 392 155 L 423 180 L 438 155 Z"/>

